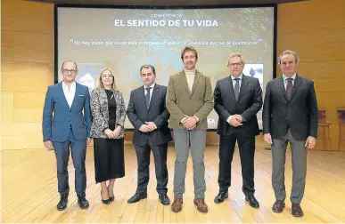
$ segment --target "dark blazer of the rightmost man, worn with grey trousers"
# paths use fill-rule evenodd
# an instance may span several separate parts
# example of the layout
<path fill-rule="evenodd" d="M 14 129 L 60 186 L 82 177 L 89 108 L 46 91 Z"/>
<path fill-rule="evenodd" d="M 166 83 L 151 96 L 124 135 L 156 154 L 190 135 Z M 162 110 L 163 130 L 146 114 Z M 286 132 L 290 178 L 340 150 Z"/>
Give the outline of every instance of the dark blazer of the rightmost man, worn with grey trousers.
<path fill-rule="evenodd" d="M 295 140 L 317 137 L 317 101 L 313 81 L 296 76 L 289 100 L 283 84 L 283 76 L 268 82 L 266 86 L 263 122 L 264 133 L 279 139 L 290 128 Z"/>

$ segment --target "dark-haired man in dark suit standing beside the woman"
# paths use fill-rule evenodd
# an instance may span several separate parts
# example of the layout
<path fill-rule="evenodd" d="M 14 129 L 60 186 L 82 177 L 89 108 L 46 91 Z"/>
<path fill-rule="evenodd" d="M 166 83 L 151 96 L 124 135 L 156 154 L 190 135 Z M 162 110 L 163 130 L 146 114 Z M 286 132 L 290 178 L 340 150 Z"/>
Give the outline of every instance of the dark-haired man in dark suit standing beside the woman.
<path fill-rule="evenodd" d="M 152 65 L 142 66 L 140 75 L 144 86 L 131 92 L 127 108 L 128 119 L 135 127 L 133 144 L 138 165 L 136 194 L 128 199 L 128 203 L 136 203 L 147 197 L 152 149 L 157 178 L 156 190 L 160 203 L 168 205 L 167 151 L 168 141 L 172 138 L 168 128 L 170 114 L 165 106 L 167 87 L 155 84 L 156 70 Z"/>

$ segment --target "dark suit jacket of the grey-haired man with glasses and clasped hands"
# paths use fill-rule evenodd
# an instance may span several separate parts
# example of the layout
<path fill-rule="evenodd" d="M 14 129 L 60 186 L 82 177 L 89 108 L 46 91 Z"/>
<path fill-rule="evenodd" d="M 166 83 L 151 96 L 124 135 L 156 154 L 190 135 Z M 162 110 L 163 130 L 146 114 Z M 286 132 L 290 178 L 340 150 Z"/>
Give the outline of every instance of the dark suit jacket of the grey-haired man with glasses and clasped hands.
<path fill-rule="evenodd" d="M 228 136 L 237 132 L 242 138 L 258 135 L 259 125 L 257 113 L 262 107 L 262 90 L 257 78 L 242 76 L 240 94 L 236 101 L 234 86 L 231 76 L 218 80 L 214 92 L 214 108 L 218 113 L 217 133 Z M 234 127 L 226 122 L 226 119 L 239 114 L 244 119 L 242 126 Z"/>

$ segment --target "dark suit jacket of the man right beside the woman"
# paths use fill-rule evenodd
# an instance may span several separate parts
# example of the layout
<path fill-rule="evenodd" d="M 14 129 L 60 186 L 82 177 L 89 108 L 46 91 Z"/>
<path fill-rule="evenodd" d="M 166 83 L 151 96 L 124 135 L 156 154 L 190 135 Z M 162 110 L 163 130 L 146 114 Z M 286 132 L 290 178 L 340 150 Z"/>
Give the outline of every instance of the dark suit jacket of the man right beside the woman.
<path fill-rule="evenodd" d="M 135 127 L 133 143 L 137 146 L 144 146 L 149 138 L 152 140 L 153 145 L 158 146 L 167 143 L 172 140 L 170 129 L 168 128 L 170 114 L 165 105 L 167 87 L 159 84 L 154 85 L 150 108 L 148 109 L 146 108 L 144 93 L 144 86 L 130 93 L 127 116 Z M 145 122 L 153 122 L 156 124 L 157 129 L 152 132 L 140 132 L 139 128 Z"/>

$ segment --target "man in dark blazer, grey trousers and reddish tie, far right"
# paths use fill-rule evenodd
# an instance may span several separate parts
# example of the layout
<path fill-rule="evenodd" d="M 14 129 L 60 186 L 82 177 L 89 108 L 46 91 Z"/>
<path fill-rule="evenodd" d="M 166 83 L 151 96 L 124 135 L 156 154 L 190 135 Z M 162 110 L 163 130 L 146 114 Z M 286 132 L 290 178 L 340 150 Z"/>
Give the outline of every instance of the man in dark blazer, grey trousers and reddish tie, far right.
<path fill-rule="evenodd" d="M 264 140 L 272 147 L 272 185 L 275 190 L 273 212 L 283 212 L 287 143 L 292 150 L 292 215 L 303 216 L 300 202 L 307 172 L 307 148 L 316 145 L 318 114 L 314 83 L 297 75 L 299 56 L 284 51 L 278 58 L 283 76 L 267 83 L 263 111 Z"/>

